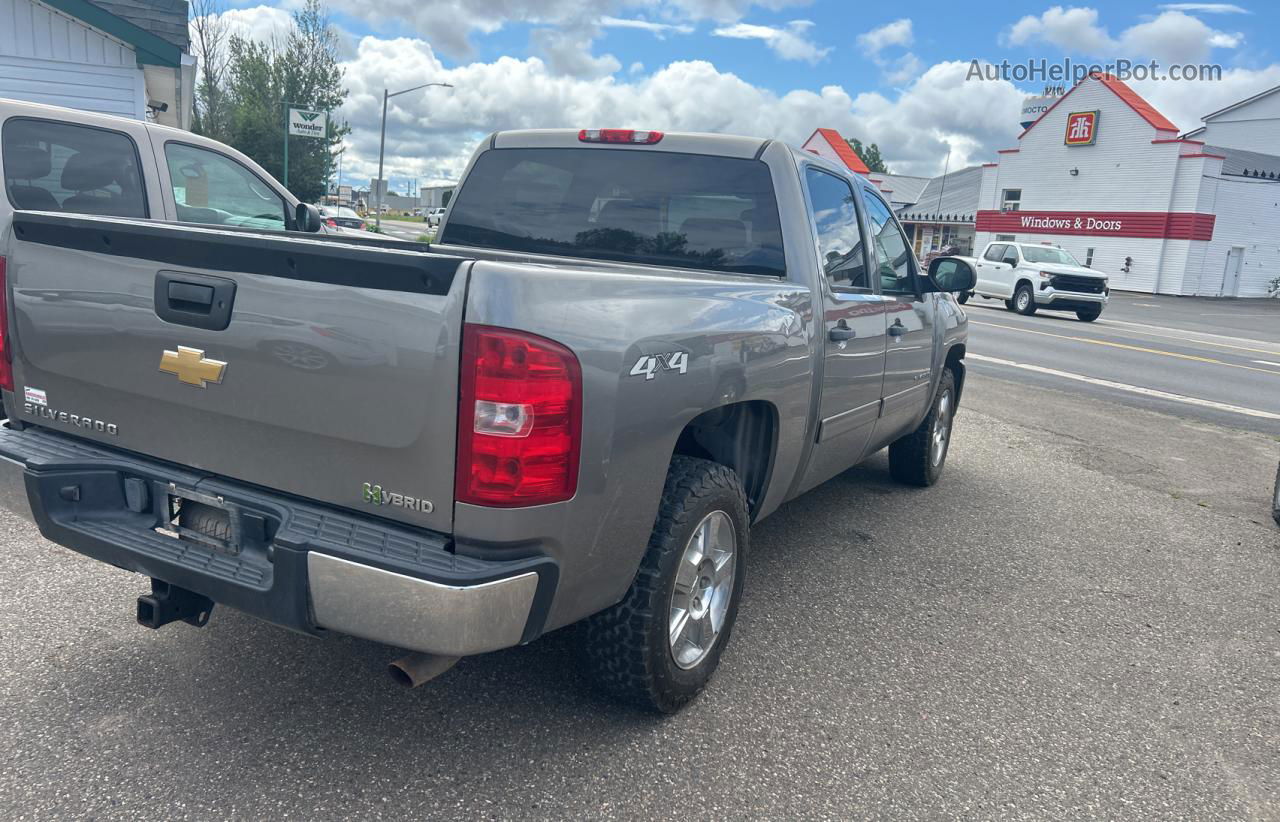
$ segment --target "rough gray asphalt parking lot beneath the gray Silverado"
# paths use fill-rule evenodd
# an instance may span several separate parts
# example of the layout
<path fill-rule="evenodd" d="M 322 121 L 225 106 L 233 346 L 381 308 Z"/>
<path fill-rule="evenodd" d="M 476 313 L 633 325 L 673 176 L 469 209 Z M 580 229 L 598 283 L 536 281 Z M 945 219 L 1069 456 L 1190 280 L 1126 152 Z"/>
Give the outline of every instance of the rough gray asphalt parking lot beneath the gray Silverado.
<path fill-rule="evenodd" d="M 598 697 L 572 629 L 413 691 L 229 609 L 147 631 L 145 580 L 0 515 L 0 808 L 1280 818 L 1280 439 L 1172 411 L 974 369 L 940 485 L 881 455 L 753 533 L 672 718 Z"/>

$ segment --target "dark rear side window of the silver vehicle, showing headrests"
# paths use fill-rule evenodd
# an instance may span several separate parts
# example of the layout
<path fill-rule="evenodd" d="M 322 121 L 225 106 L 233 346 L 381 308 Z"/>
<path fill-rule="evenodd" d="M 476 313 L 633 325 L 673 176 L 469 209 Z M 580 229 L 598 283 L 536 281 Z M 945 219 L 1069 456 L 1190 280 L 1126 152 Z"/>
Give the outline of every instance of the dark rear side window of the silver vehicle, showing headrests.
<path fill-rule="evenodd" d="M 147 216 L 138 151 L 128 134 L 15 118 L 5 123 L 0 142 L 13 207 Z"/>

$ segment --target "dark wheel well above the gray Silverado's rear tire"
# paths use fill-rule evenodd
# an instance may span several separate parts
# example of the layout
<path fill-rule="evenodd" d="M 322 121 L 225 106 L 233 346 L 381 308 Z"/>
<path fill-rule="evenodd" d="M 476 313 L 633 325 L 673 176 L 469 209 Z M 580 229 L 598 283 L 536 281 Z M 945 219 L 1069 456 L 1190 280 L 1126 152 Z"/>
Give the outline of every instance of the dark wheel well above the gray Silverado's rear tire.
<path fill-rule="evenodd" d="M 735 402 L 699 414 L 685 425 L 672 456 L 700 457 L 733 469 L 751 519 L 764 502 L 777 451 L 778 411 L 764 401 Z"/>

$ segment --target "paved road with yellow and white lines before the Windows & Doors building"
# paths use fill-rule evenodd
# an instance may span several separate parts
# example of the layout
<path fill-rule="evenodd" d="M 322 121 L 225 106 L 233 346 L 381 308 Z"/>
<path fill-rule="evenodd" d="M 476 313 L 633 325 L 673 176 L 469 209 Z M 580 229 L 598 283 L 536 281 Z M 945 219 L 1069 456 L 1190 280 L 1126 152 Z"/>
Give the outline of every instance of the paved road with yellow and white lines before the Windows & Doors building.
<path fill-rule="evenodd" d="M 1280 435 L 1280 301 L 1121 294 L 1096 323 L 968 309 L 977 373 Z"/>

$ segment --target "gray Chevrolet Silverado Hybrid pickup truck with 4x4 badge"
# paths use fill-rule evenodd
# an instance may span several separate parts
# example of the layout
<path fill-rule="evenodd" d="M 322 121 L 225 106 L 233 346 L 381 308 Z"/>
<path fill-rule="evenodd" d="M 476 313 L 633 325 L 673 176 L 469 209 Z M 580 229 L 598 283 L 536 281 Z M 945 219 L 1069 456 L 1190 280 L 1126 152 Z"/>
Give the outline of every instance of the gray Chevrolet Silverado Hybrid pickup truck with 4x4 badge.
<path fill-rule="evenodd" d="M 947 456 L 972 268 L 918 270 L 870 184 L 781 142 L 494 134 L 430 247 L 13 179 L 0 501 L 151 577 L 151 627 L 223 603 L 417 652 L 412 684 L 586 620 L 599 680 L 672 712 L 751 524 L 881 448 L 914 485 Z"/>

